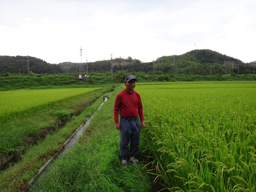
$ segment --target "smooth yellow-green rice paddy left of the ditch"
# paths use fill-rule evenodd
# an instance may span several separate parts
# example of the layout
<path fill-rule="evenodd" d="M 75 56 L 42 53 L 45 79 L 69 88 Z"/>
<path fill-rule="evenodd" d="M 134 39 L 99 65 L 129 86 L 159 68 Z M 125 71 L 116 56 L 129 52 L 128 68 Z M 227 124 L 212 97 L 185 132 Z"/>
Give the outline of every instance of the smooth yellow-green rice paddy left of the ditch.
<path fill-rule="evenodd" d="M 38 110 L 56 106 L 66 100 L 99 88 L 15 90 L 0 92 L 0 122 L 14 120 Z"/>

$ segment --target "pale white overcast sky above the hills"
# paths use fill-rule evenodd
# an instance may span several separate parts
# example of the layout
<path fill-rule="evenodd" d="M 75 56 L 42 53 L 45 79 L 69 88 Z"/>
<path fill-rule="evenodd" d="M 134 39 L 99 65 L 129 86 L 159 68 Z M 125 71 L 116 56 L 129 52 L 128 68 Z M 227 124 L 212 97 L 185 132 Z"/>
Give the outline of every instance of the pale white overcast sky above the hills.
<path fill-rule="evenodd" d="M 0 55 L 51 64 L 210 49 L 256 60 L 256 0 L 0 0 Z"/>

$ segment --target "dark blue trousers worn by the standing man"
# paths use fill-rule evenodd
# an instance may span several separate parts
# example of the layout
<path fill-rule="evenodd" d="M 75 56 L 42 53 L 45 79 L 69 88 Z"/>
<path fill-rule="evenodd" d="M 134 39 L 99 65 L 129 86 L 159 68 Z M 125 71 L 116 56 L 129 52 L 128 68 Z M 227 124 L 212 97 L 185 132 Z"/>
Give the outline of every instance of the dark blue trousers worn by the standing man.
<path fill-rule="evenodd" d="M 120 156 L 127 159 L 128 156 L 136 156 L 140 142 L 140 121 L 139 117 L 120 117 Z M 128 144 L 130 142 L 130 150 Z"/>

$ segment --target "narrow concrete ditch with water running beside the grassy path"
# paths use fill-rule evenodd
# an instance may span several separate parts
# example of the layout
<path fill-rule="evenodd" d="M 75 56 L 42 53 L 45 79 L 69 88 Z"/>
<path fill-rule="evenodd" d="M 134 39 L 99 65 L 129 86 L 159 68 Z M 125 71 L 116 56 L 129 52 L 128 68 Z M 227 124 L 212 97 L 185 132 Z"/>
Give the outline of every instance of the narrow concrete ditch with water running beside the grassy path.
<path fill-rule="evenodd" d="M 111 94 L 112 92 L 110 92 Z M 33 190 L 38 190 L 40 189 L 40 185 L 38 184 L 38 179 L 40 178 L 44 178 L 46 176 L 46 173 L 49 172 L 50 168 L 51 168 L 51 164 L 53 162 L 54 159 L 60 159 L 61 156 L 63 154 L 65 154 L 66 152 L 68 152 L 71 148 L 73 148 L 77 142 L 78 139 L 82 136 L 84 130 L 86 130 L 87 126 L 90 124 L 90 121 L 92 120 L 92 118 L 94 117 L 94 115 L 96 114 L 96 112 L 101 108 L 101 106 L 108 100 L 109 96 L 104 96 L 103 97 L 103 102 L 100 104 L 100 106 L 98 107 L 98 109 L 90 116 L 86 119 L 86 122 L 84 124 L 81 124 L 76 131 L 64 142 L 64 149 L 59 152 L 58 154 L 56 154 L 54 157 L 50 158 L 37 172 L 37 176 L 32 178 L 29 182 L 28 182 L 28 187 L 26 189 L 26 192 L 30 192 Z"/>

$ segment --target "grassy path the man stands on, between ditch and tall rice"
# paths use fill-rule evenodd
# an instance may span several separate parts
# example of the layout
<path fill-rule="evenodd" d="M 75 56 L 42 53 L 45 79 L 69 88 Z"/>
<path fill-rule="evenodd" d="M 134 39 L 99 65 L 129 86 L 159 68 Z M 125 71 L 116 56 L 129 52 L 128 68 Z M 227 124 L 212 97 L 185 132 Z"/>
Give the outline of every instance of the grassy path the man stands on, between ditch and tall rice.
<path fill-rule="evenodd" d="M 91 120 L 74 149 L 52 165 L 40 189 L 35 191 L 150 191 L 151 182 L 142 162 L 121 166 L 119 131 L 114 125 L 113 106 L 118 87 Z M 142 131 L 143 132 L 143 131 Z M 140 142 L 138 159 L 145 159 Z"/>

